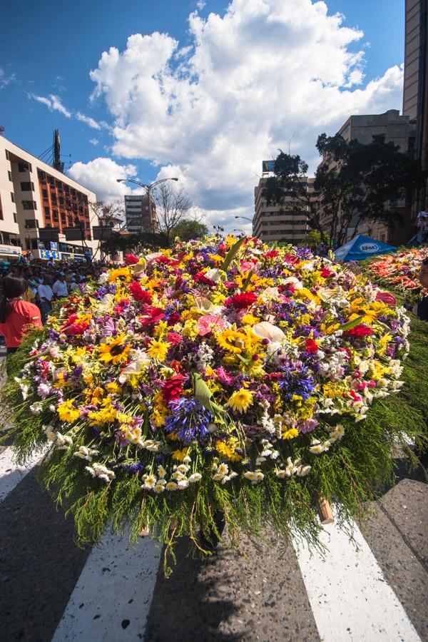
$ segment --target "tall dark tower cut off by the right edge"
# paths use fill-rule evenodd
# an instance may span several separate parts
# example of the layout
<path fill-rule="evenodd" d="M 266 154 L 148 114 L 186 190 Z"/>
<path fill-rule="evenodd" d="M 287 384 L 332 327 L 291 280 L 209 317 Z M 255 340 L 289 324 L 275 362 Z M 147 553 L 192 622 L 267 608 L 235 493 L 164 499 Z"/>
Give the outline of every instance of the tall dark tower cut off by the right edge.
<path fill-rule="evenodd" d="M 406 0 L 403 115 L 416 127 L 414 157 L 428 172 L 428 0 Z M 412 220 L 428 210 L 428 180 L 413 198 Z"/>

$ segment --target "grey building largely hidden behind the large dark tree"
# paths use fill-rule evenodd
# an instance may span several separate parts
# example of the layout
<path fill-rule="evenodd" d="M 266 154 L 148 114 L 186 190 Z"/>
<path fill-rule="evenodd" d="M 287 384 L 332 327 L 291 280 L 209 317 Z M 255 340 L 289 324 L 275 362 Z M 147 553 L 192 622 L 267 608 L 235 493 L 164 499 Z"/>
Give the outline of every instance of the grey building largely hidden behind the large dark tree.
<path fill-rule="evenodd" d="M 410 122 L 409 116 L 400 116 L 397 109 L 389 109 L 385 113 L 364 114 L 350 116 L 338 131 L 348 143 L 358 141 L 362 145 L 369 145 L 374 136 L 384 136 L 385 143 L 394 143 L 403 153 L 413 153 L 415 126 Z M 321 161 L 320 164 L 325 163 Z M 377 221 L 363 221 L 358 225 L 358 233 L 371 236 L 377 240 L 402 245 L 412 238 L 414 222 L 411 215 L 410 203 L 405 200 L 397 203 L 397 212 L 402 217 L 402 223 L 396 224 L 394 229 L 388 228 L 384 223 Z M 326 233 L 330 230 L 331 217 L 321 213 L 322 228 Z M 352 225 L 353 223 L 353 225 Z M 357 217 L 347 230 L 347 237 L 342 240 L 346 243 L 355 232 Z"/>

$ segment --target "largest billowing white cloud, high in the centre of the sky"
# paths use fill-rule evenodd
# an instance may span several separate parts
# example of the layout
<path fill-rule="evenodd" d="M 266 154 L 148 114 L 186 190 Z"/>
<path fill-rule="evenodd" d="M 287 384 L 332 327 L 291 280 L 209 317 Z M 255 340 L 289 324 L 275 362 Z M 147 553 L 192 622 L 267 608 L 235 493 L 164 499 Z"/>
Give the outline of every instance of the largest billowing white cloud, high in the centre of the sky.
<path fill-rule="evenodd" d="M 272 151 L 291 138 L 314 170 L 319 133 L 401 105 L 402 67 L 363 86 L 364 34 L 342 19 L 323 1 L 233 0 L 223 16 L 190 14 L 191 48 L 157 32 L 130 36 L 91 71 L 93 98 L 114 118 L 112 152 L 165 165 L 159 176 L 173 168 L 210 218 L 242 227 L 234 212 L 252 213 Z"/>

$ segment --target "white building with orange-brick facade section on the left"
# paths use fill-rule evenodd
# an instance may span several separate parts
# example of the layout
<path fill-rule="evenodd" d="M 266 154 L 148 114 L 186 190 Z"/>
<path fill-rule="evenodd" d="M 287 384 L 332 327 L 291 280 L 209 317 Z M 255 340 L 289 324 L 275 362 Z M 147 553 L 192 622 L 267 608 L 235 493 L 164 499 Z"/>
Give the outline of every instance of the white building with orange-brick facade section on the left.
<path fill-rule="evenodd" d="M 96 195 L 0 136 L 0 257 L 83 258 L 96 249 L 91 203 Z"/>

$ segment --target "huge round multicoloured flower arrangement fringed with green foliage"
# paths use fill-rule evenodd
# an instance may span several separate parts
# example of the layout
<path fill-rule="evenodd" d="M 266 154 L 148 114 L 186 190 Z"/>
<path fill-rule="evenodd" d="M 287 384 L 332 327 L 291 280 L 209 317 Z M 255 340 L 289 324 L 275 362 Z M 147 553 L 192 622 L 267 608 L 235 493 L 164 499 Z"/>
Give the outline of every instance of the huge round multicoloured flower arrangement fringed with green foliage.
<path fill-rule="evenodd" d="M 408 332 L 394 297 L 309 250 L 127 255 L 12 358 L 16 452 L 51 444 L 41 478 L 80 541 L 109 522 L 197 541 L 218 511 L 233 540 L 267 522 L 315 540 L 317 498 L 355 515 L 423 423 L 392 401 Z"/>

